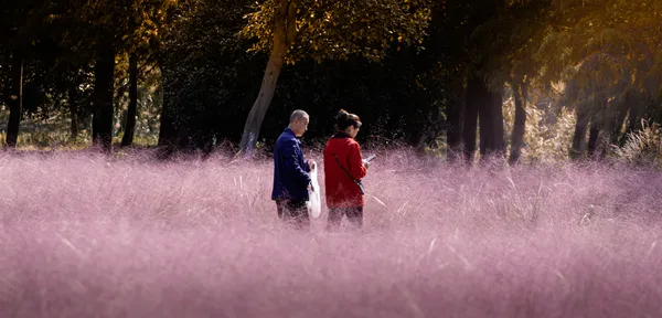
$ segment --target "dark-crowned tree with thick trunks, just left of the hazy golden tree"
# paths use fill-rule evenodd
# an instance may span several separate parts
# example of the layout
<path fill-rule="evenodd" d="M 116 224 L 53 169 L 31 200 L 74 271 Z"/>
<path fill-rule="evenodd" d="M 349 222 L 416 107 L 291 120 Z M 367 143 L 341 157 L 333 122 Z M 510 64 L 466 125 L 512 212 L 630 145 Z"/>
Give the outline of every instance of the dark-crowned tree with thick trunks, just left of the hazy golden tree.
<path fill-rule="evenodd" d="M 549 2 L 445 1 L 448 14 L 441 15 L 442 22 L 433 20 L 433 25 L 440 23 L 445 30 L 444 39 L 458 47 L 449 51 L 447 68 L 459 70 L 458 77 L 465 80 L 465 85 L 448 85 L 465 89 L 465 98 L 446 108 L 450 158 L 462 153 L 467 161 L 473 161 L 479 124 L 483 158 L 505 155 L 500 96 L 511 74 L 534 72 L 517 70 L 519 61 L 535 46 L 531 42 L 542 32 Z"/>

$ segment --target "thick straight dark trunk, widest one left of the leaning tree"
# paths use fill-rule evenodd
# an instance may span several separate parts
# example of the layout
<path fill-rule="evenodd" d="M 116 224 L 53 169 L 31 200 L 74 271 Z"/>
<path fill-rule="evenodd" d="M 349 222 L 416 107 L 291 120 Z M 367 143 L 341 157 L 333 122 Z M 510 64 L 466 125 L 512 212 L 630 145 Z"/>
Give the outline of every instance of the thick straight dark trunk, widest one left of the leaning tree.
<path fill-rule="evenodd" d="M 113 34 L 104 34 L 97 46 L 95 65 L 95 106 L 92 135 L 95 145 L 104 152 L 113 151 L 113 97 L 115 75 L 115 45 Z"/>

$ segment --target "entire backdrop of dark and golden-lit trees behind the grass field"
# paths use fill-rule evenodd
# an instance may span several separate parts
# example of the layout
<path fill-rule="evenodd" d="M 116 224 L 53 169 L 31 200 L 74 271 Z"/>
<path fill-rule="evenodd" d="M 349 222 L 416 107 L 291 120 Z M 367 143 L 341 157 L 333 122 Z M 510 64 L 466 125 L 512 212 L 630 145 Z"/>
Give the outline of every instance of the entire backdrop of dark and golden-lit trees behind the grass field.
<path fill-rule="evenodd" d="M 293 108 L 313 115 L 320 138 L 351 108 L 370 123 L 366 140 L 470 161 L 477 148 L 510 148 L 516 162 L 533 110 L 576 112 L 577 157 L 662 121 L 661 1 L 67 0 L 1 14 L 10 146 L 21 114 L 64 114 L 106 150 L 120 135 L 130 145 L 136 123 L 160 121 L 160 146 L 212 151 L 273 140 L 282 124 L 271 118 Z M 162 113 L 138 112 L 141 94 L 160 94 L 149 107 Z"/>

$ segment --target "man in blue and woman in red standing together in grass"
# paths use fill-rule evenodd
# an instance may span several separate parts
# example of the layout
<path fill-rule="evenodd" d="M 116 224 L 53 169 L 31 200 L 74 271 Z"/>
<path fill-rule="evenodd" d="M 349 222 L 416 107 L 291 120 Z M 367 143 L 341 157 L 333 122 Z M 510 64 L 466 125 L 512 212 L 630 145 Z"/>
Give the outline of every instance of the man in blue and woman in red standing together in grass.
<path fill-rule="evenodd" d="M 324 190 L 329 219 L 327 229 L 340 227 L 343 216 L 354 227 L 363 226 L 363 189 L 361 179 L 365 177 L 370 162 L 361 157 L 361 147 L 354 140 L 361 120 L 345 110 L 338 113 L 338 131 L 327 141 L 323 152 Z M 303 110 L 295 110 L 289 125 L 276 140 L 274 147 L 274 191 L 278 216 L 298 229 L 309 229 L 310 219 L 306 202 L 312 187 L 310 172 L 317 169 L 313 160 L 305 160 L 301 141 L 298 138 L 308 130 L 310 117 Z M 320 191 L 320 189 L 311 189 Z"/>

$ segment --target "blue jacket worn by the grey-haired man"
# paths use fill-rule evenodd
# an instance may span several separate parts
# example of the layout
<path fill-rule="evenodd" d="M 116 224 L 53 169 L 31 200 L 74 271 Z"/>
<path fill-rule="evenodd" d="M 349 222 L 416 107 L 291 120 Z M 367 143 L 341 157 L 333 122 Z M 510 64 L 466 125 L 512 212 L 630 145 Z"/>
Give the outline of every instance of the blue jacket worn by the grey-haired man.
<path fill-rule="evenodd" d="M 301 141 L 285 128 L 274 147 L 274 191 L 271 200 L 290 199 L 308 201 L 310 167 L 303 160 Z"/>

